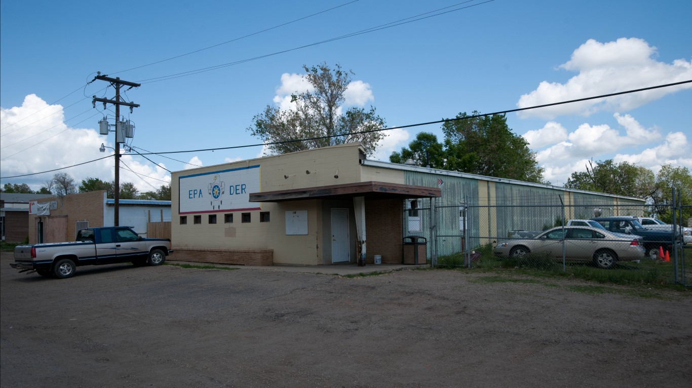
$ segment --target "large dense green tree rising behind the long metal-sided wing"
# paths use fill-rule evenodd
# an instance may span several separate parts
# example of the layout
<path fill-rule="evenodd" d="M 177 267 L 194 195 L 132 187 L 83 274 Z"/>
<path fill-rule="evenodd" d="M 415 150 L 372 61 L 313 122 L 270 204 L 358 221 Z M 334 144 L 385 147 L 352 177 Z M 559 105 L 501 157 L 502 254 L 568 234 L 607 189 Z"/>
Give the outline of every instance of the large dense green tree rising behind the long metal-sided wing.
<path fill-rule="evenodd" d="M 543 167 L 529 143 L 507 125 L 507 116 L 459 113 L 457 119 L 442 124 L 448 169 L 471 174 L 546 183 Z"/>

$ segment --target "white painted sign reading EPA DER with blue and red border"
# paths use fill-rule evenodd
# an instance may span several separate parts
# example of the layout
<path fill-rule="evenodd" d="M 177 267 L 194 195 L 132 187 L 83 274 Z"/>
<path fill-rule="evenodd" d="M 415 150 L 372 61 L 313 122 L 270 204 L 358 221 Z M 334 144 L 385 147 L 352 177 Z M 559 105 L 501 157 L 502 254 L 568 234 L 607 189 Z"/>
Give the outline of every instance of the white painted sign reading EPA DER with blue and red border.
<path fill-rule="evenodd" d="M 260 210 L 250 193 L 260 192 L 260 166 L 181 176 L 179 214 Z"/>

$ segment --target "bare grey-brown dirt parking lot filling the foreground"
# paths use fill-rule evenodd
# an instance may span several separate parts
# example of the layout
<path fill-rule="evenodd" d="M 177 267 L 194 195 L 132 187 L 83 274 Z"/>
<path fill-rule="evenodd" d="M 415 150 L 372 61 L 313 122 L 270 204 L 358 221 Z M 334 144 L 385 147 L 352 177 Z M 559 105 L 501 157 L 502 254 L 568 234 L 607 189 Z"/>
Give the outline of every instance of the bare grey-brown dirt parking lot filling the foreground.
<path fill-rule="evenodd" d="M 127 264 L 57 280 L 10 261 L 2 387 L 692 386 L 692 297 L 679 291 Z"/>

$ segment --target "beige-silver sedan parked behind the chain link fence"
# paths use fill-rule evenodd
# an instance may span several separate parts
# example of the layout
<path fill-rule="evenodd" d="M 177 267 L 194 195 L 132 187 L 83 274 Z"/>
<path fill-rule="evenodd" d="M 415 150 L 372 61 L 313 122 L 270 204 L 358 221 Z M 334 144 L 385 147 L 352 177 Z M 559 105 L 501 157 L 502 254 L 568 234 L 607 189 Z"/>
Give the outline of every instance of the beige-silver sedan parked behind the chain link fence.
<path fill-rule="evenodd" d="M 566 260 L 594 261 L 601 268 L 612 268 L 617 261 L 644 259 L 644 247 L 637 236 L 585 226 L 552 228 L 532 239 L 500 241 L 493 252 L 498 257 L 531 253 L 562 259 L 563 241 Z"/>

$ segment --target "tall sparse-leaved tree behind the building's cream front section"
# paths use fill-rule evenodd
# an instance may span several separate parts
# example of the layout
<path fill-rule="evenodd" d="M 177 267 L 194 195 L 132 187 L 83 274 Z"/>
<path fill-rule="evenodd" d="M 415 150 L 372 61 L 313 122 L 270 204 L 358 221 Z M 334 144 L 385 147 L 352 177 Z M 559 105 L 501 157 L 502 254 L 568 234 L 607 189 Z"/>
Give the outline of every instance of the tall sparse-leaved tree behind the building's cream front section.
<path fill-rule="evenodd" d="M 247 130 L 265 143 L 335 136 L 267 145 L 274 154 L 356 141 L 363 142 L 366 154 L 373 154 L 377 142 L 385 134 L 355 132 L 381 129 L 385 127 L 385 120 L 376 115 L 372 106 L 370 109 L 350 107 L 343 111 L 344 93 L 355 73 L 342 70 L 339 64 L 331 69 L 326 62 L 310 68 L 303 65 L 303 69 L 307 72 L 305 79 L 312 89 L 302 93 L 296 91 L 297 94 L 291 95 L 295 109 L 282 111 L 278 107 L 267 105 L 262 113 L 253 117 L 253 125 Z"/>

